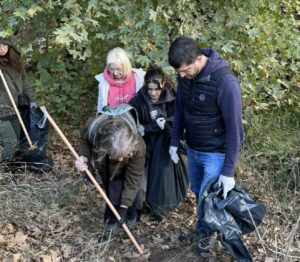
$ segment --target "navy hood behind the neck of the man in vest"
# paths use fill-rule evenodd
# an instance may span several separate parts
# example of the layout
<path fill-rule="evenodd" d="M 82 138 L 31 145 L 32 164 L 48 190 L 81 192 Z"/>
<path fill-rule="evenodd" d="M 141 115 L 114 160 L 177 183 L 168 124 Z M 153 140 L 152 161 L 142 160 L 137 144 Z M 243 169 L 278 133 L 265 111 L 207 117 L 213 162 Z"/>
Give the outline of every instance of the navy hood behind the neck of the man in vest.
<path fill-rule="evenodd" d="M 204 48 L 201 50 L 203 55 L 208 57 L 208 61 L 205 67 L 199 73 L 200 77 L 207 76 L 222 67 L 228 66 L 228 63 L 214 49 Z"/>

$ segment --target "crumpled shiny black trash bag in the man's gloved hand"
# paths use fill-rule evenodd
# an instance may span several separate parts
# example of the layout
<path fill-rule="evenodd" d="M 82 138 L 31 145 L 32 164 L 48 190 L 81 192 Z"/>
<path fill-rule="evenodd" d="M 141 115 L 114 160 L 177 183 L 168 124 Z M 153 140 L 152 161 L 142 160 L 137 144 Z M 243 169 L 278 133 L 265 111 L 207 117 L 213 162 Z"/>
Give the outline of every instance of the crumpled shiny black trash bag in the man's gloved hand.
<path fill-rule="evenodd" d="M 262 222 L 266 208 L 256 203 L 239 185 L 222 197 L 217 179 L 211 181 L 199 199 L 199 216 L 207 226 L 220 233 L 220 241 L 237 261 L 252 261 L 241 235 L 255 230 Z"/>

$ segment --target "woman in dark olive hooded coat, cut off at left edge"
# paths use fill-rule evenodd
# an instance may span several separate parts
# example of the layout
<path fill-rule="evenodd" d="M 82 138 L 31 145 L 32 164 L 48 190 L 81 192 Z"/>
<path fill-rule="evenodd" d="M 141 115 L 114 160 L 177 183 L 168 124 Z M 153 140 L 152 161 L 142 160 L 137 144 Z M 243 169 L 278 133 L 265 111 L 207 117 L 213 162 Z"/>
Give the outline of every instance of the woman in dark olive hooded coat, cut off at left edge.
<path fill-rule="evenodd" d="M 35 93 L 29 87 L 26 72 L 19 51 L 7 38 L 0 37 L 0 69 L 10 93 L 19 104 L 19 94 L 25 94 L 29 101 L 26 106 L 35 107 Z M 0 161 L 11 161 L 18 150 L 20 123 L 9 99 L 2 79 L 0 79 L 0 140 L 3 146 Z"/>

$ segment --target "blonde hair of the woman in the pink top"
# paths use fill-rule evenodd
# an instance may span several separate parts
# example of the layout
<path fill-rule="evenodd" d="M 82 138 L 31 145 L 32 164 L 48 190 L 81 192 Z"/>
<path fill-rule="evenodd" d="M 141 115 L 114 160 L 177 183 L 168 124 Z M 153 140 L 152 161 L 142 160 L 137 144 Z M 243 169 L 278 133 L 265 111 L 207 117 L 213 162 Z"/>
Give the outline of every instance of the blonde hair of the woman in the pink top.
<path fill-rule="evenodd" d="M 130 74 L 132 66 L 129 55 L 121 47 L 116 47 L 110 50 L 106 57 L 106 65 L 118 64 L 122 68 L 122 74 L 127 76 Z"/>

